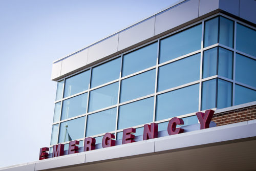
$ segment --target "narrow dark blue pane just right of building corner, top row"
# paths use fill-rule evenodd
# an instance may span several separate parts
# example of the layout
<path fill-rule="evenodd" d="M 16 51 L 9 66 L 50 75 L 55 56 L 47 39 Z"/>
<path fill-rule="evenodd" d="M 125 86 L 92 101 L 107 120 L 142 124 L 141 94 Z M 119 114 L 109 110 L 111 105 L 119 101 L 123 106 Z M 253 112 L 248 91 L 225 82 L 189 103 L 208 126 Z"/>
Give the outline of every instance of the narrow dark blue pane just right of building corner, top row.
<path fill-rule="evenodd" d="M 232 20 L 220 17 L 220 44 L 233 48 L 233 28 Z"/>

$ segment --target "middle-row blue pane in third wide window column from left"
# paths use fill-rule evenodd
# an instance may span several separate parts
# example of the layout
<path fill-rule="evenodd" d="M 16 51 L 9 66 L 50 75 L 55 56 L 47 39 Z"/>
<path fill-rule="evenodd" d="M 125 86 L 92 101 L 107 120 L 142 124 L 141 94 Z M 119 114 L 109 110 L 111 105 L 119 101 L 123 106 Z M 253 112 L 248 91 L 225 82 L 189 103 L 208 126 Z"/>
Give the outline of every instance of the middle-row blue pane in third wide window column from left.
<path fill-rule="evenodd" d="M 155 92 L 156 70 L 150 70 L 121 81 L 120 102 Z"/>

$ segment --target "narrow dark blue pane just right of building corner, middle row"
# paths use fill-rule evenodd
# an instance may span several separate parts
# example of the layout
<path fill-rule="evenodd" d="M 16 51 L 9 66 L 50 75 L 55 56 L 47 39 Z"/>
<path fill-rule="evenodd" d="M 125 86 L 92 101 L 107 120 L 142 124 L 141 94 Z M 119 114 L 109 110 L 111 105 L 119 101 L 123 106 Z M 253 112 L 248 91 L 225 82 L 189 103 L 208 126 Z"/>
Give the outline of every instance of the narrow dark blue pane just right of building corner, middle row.
<path fill-rule="evenodd" d="M 219 47 L 218 75 L 233 78 L 233 52 Z"/>

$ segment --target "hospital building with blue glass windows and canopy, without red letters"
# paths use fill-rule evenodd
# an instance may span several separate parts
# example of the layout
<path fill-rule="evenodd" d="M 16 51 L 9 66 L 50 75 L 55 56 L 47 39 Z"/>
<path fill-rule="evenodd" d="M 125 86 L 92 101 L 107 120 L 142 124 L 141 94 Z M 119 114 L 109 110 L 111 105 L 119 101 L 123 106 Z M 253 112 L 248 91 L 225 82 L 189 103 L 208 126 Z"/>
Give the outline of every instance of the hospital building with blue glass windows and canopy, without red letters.
<path fill-rule="evenodd" d="M 54 61 L 49 158 L 60 143 L 65 155 L 7 169 L 256 169 L 255 8 L 253 0 L 180 1 Z M 215 123 L 200 130 L 196 113 L 206 110 Z M 169 136 L 175 117 L 185 133 Z M 160 138 L 143 141 L 151 123 Z M 138 142 L 122 144 L 131 127 Z M 102 148 L 105 133 L 115 147 Z M 94 151 L 83 152 L 87 137 Z M 79 153 L 68 155 L 74 140 Z"/>

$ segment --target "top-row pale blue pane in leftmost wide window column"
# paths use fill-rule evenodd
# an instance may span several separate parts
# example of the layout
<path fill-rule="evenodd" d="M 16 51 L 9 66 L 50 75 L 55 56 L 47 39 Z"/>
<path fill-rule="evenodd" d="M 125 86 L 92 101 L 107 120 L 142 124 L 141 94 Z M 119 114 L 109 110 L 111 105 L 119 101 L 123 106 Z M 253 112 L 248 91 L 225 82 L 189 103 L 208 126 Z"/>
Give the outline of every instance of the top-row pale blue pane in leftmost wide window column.
<path fill-rule="evenodd" d="M 88 90 L 90 83 L 90 70 L 69 77 L 65 80 L 64 97 Z"/>

